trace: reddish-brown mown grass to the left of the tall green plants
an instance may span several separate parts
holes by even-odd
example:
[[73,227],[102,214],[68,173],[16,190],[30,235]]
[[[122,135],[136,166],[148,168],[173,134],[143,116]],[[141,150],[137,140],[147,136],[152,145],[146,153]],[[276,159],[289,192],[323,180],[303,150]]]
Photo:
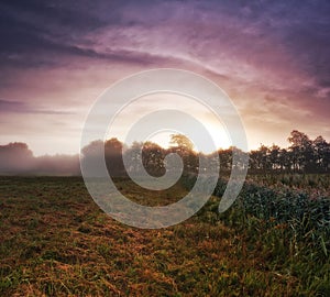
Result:
[[[185,194],[176,185],[155,199],[128,180],[118,185],[143,204],[169,204]],[[276,251],[263,244],[267,230],[250,239],[226,227],[211,210],[216,199],[182,224],[140,230],[105,215],[78,177],[1,177],[0,295],[315,296],[321,292],[289,266],[289,255],[276,260]]]

